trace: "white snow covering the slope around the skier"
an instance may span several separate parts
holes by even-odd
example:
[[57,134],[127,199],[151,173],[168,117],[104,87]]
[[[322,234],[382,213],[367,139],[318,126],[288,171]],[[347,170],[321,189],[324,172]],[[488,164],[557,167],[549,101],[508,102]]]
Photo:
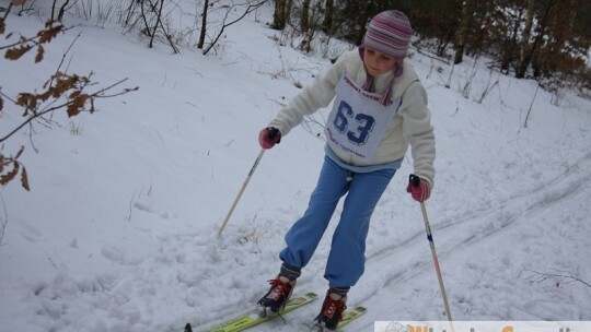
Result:
[[[100,99],[93,115],[55,112],[49,126],[3,145],[5,155],[25,146],[32,190],[19,181],[0,189],[0,331],[182,331],[187,321],[206,330],[253,307],[278,272],[282,236],[304,212],[324,157],[320,126],[294,129],[265,153],[217,236],[260,151],[258,131],[299,92],[294,83],[329,66],[278,46],[265,26],[271,15],[267,4],[232,25],[221,51],[206,57],[190,47],[149,49],[115,25],[69,17],[72,28],[42,63],[34,55],[0,60],[3,94],[39,90],[81,34],[68,72],[139,86]],[[16,15],[7,23],[25,35],[40,24]],[[436,127],[426,208],[453,318],[591,320],[591,102],[535,94],[535,82],[490,73],[484,61],[455,67],[445,88],[451,67],[416,51],[410,60]],[[23,119],[4,102],[2,133]],[[405,161],[373,215],[366,274],[349,294],[350,306],[369,312],[349,331],[447,319],[420,208],[405,192],[412,171]],[[325,292],[339,211],[298,290]],[[301,329],[320,305],[257,331]]]

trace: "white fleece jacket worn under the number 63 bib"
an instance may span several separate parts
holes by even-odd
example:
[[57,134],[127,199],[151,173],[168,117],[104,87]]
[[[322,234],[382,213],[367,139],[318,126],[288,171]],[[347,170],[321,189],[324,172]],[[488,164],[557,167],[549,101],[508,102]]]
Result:
[[[302,122],[304,116],[328,106],[335,97],[335,87],[344,71],[359,85],[366,82],[367,73],[357,49],[343,55],[335,64],[317,75],[311,85],[293,97],[288,107],[282,109],[269,126],[279,129],[281,135],[285,137]],[[374,78],[375,92],[383,94],[393,75],[394,72],[391,71]],[[415,175],[429,181],[432,188],[436,146],[431,114],[427,108],[425,87],[406,60],[403,62],[402,75],[394,81],[392,96],[401,98],[402,104],[397,115],[391,120],[371,163],[363,163],[344,150],[332,149],[332,152],[343,163],[362,167],[398,161],[405,156],[410,145]]]

